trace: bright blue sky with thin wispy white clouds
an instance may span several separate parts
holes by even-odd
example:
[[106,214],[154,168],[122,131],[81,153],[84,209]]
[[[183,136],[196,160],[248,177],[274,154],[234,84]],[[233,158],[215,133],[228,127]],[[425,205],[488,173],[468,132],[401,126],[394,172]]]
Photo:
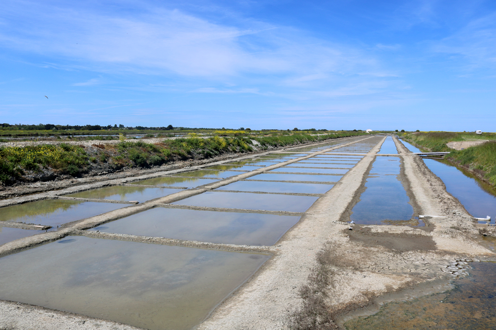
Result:
[[496,1],[2,0],[0,122],[495,132]]

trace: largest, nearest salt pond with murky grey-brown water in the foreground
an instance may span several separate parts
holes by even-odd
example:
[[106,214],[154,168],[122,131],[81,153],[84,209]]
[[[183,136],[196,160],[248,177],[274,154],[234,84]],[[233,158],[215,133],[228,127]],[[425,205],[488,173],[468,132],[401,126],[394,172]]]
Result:
[[1,258],[0,299],[151,330],[189,330],[267,259],[68,236]]

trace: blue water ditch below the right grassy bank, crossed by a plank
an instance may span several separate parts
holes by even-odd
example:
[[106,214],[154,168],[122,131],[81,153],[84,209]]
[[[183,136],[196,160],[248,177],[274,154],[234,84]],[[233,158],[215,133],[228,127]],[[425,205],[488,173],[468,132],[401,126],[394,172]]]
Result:
[[[408,142],[403,144],[412,152],[421,152]],[[429,169],[442,180],[446,190],[456,197],[476,218],[496,217],[496,189],[480,181],[470,172],[455,167],[445,160],[424,159]],[[483,222],[486,223],[486,222]]]

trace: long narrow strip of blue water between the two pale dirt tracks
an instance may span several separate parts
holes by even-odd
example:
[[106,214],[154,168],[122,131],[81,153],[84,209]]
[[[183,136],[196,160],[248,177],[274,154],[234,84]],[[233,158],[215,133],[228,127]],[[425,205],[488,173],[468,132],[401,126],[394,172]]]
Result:
[[[413,207],[408,202],[403,185],[398,180],[398,157],[376,157],[365,183],[360,201],[353,207],[350,220],[357,224],[383,225],[412,219]],[[392,222],[390,222],[392,221]]]

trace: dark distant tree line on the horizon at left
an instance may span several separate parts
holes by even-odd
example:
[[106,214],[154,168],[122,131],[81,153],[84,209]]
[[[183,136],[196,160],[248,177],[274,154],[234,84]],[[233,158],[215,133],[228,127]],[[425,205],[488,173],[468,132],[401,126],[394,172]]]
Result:
[[145,127],[145,126],[136,126],[136,127],[124,127],[123,124],[115,124],[101,126],[101,125],[55,125],[55,124],[38,124],[38,125],[23,125],[23,124],[0,124],[0,130],[6,131],[64,131],[64,130],[72,130],[72,131],[100,131],[100,130],[158,130],[158,131],[169,131],[173,130],[174,127],[169,125],[167,127]]

